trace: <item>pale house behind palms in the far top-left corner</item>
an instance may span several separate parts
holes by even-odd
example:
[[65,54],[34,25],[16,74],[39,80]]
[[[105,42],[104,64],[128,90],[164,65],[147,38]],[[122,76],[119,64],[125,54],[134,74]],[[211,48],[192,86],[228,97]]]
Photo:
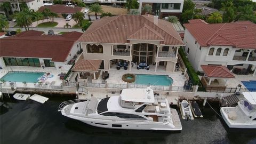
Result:
[[[10,2],[12,5],[13,12],[19,11],[17,0],[0,0],[0,5],[3,2]],[[44,5],[43,0],[19,0],[19,4],[21,4],[22,2],[25,2],[28,5],[29,9],[33,9],[35,11],[37,11],[39,7]]]

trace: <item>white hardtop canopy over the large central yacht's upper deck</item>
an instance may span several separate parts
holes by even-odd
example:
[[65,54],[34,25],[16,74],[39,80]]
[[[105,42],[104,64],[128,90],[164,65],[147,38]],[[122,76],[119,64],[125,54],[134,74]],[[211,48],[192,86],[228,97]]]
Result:
[[121,93],[124,101],[154,103],[154,92],[150,87],[147,89],[124,89]]

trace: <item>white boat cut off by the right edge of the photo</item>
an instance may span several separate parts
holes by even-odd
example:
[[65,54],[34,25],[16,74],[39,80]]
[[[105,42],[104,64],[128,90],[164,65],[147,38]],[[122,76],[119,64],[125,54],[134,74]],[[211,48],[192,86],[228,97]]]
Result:
[[221,107],[220,113],[230,128],[256,129],[256,92],[243,92],[236,107]]

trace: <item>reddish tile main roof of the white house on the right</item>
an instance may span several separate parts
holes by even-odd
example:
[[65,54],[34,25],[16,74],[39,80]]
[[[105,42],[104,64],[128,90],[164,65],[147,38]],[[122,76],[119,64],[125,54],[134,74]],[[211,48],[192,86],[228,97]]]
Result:
[[203,20],[189,20],[184,26],[201,46],[256,49],[256,24],[248,21],[209,24]]

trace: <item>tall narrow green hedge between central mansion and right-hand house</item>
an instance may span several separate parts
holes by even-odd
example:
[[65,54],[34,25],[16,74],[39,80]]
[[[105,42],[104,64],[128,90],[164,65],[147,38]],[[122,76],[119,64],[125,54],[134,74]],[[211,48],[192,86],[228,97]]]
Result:
[[187,68],[187,72],[189,77],[191,78],[193,85],[198,85],[200,82],[199,77],[196,74],[195,69],[191,65],[191,63],[188,61],[188,58],[186,57],[185,53],[182,51],[182,49],[179,49],[180,57],[182,58],[183,62],[185,63],[185,66]]

